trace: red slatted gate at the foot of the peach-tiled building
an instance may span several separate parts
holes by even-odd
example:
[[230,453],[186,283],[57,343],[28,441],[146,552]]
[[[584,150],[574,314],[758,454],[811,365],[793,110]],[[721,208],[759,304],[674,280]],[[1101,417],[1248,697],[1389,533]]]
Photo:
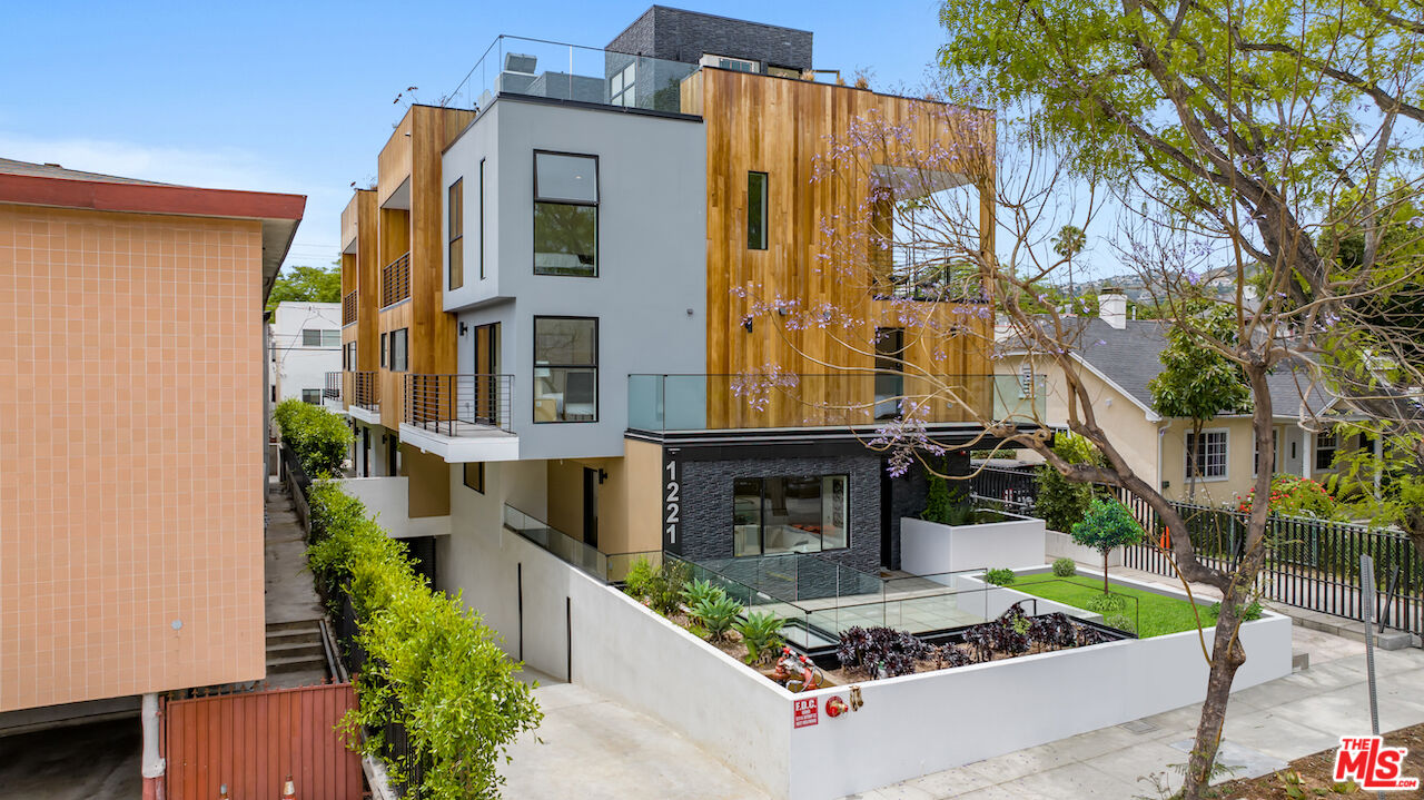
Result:
[[350,683],[172,700],[164,712],[171,800],[276,800],[288,776],[300,800],[357,800],[360,756],[336,730],[356,707]]

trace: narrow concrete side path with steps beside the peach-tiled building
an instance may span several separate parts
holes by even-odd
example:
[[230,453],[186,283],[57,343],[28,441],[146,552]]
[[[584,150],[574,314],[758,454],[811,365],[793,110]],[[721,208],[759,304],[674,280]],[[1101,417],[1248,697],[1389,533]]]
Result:
[[266,494],[266,673],[273,688],[328,679],[322,606],[306,571],[306,541],[292,498],[278,485]]

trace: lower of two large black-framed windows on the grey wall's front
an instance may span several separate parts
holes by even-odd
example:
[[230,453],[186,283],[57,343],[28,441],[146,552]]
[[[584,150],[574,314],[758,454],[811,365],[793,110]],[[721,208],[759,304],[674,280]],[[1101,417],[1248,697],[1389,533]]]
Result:
[[534,421],[598,420],[598,320],[534,317]]

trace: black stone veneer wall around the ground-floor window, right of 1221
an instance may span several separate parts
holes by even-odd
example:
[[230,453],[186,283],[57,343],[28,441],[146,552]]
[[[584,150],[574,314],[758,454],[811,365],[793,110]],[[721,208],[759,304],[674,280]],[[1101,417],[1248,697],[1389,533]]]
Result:
[[880,567],[879,456],[679,461],[684,558],[732,558],[732,481],[736,478],[844,474],[850,475],[850,548],[823,552],[820,558],[866,572]]

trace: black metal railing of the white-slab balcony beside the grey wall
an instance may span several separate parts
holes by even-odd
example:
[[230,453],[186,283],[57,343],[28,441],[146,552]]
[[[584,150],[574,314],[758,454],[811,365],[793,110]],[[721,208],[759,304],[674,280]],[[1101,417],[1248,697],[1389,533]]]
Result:
[[443,436],[510,430],[514,376],[406,374],[404,421]]

